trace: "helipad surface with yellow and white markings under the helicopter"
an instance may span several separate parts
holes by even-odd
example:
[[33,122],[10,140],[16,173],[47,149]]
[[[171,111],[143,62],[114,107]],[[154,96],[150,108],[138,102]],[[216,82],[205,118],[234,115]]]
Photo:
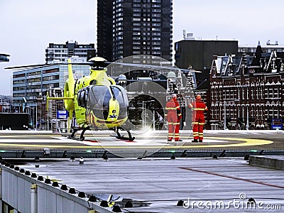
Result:
[[[53,149],[77,149],[77,148],[151,148],[160,150],[161,148],[244,148],[246,146],[263,146],[274,143],[271,139],[273,134],[282,134],[277,132],[269,133],[268,139],[259,138],[261,132],[233,132],[219,135],[215,132],[205,133],[203,143],[192,143],[190,131],[181,131],[182,141],[167,141],[166,131],[149,131],[147,133],[134,132],[134,141],[119,140],[112,133],[106,131],[95,131],[89,133],[84,141],[76,141],[62,136],[60,133],[41,133],[40,131],[27,131],[25,133],[1,132],[0,147],[9,148],[53,148]],[[233,135],[234,134],[234,135]],[[112,136],[111,136],[112,135]],[[230,137],[231,136],[231,137]],[[233,136],[233,137],[232,137]],[[267,135],[266,135],[267,136]],[[279,146],[278,146],[279,147]],[[280,148],[280,147],[279,147]]]

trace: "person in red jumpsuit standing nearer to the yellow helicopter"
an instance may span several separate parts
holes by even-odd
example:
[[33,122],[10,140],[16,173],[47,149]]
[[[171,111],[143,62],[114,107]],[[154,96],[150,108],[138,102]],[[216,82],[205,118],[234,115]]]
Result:
[[172,99],[165,104],[165,119],[168,121],[168,141],[182,141],[180,139],[180,104],[177,94],[172,94]]

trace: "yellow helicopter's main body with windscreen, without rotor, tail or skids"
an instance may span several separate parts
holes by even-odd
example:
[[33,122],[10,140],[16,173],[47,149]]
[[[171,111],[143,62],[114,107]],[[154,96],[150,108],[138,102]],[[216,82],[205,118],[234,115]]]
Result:
[[[128,106],[126,93],[122,87],[107,76],[107,70],[91,70],[90,75],[75,82],[74,107],[75,118],[80,128],[112,129],[121,126],[127,120],[127,112],[121,116],[121,106]],[[122,95],[115,97],[119,92]],[[95,100],[95,101],[94,101]],[[84,104],[82,104],[84,102]],[[122,103],[121,102],[127,102]],[[122,109],[122,110],[125,110]]]

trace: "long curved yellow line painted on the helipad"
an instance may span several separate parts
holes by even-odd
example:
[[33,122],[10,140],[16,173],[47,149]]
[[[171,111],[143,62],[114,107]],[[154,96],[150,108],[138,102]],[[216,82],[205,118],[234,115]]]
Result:
[[[131,143],[129,146],[67,146],[67,145],[36,145],[36,144],[13,144],[13,143],[0,143],[0,146],[10,146],[10,147],[33,147],[33,148],[224,148],[224,147],[238,147],[238,146],[261,146],[273,143],[273,141],[261,140],[261,139],[249,139],[249,138],[221,138],[221,137],[207,137],[210,139],[218,139],[226,141],[243,141],[243,143],[229,143],[229,144],[202,144],[199,145],[189,145],[189,146],[139,146]],[[74,142],[74,141],[72,141]],[[48,143],[48,141],[47,141]],[[78,142],[80,143],[80,142]],[[99,143],[99,142],[97,142]],[[119,143],[119,141],[118,141]],[[183,142],[184,143],[184,142]],[[207,142],[204,142],[207,143]],[[212,143],[212,142],[210,142]]]

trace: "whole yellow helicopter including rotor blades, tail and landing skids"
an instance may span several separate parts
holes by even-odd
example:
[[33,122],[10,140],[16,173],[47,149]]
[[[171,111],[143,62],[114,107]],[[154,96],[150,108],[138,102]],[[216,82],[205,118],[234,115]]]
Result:
[[[53,63],[43,65],[26,65],[19,67],[6,67],[5,69],[23,69],[28,67],[45,67],[62,65],[66,63]],[[72,65],[90,65],[90,74],[75,80]],[[47,108],[49,100],[63,100],[64,106],[69,111],[68,132],[70,121],[75,116],[78,127],[72,126],[72,133],[68,138],[84,141],[84,133],[87,130],[114,130],[116,138],[133,141],[131,125],[128,120],[129,99],[126,89],[117,85],[115,80],[107,75],[107,65],[126,65],[143,69],[170,69],[185,70],[173,67],[159,67],[145,64],[131,64],[123,62],[107,62],[104,58],[94,57],[88,62],[71,62],[67,60],[68,78],[65,82],[63,97],[50,97],[47,93]],[[189,71],[189,70],[187,70]],[[190,72],[200,72],[191,70]],[[82,130],[79,137],[77,131]],[[122,136],[119,130],[126,131],[128,137]]]

